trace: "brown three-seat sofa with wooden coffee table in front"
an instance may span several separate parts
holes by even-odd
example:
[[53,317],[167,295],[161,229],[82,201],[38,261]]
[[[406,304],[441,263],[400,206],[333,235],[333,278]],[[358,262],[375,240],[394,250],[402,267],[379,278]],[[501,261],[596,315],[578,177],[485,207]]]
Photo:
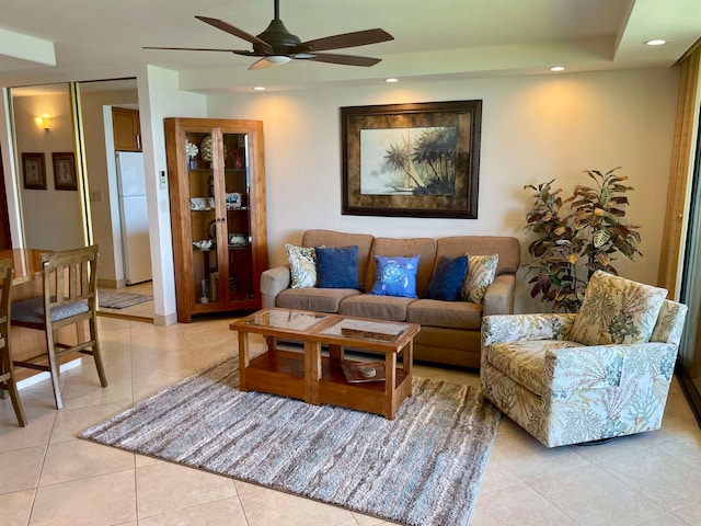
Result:
[[[265,271],[261,277],[263,307],[338,312],[346,316],[420,323],[414,340],[417,361],[480,367],[480,325],[482,316],[514,312],[516,271],[520,244],[516,238],[455,236],[449,238],[376,238],[366,233],[307,230],[302,247],[358,245],[358,278],[361,290],[347,288],[289,288],[288,266]],[[441,255],[491,255],[498,253],[496,278],[482,305],[468,301],[427,299],[426,289],[435,262]],[[416,275],[418,298],[367,294],[375,282],[374,255],[414,256],[420,254]]]

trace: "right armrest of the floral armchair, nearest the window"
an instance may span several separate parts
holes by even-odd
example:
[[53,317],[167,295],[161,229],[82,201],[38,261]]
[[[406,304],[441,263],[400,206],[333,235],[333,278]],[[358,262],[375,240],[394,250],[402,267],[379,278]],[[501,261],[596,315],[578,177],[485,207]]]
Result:
[[671,343],[582,345],[545,352],[543,384],[558,392],[643,382],[666,389],[671,381],[677,346]]

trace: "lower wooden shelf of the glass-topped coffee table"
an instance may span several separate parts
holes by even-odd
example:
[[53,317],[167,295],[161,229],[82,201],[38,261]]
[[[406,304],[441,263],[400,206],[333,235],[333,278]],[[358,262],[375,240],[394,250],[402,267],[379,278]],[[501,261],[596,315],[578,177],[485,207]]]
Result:
[[384,380],[349,382],[342,363],[321,357],[321,378],[304,380],[304,354],[272,350],[251,358],[245,368],[245,390],[297,398],[314,405],[327,403],[394,418],[397,408],[412,393],[411,374],[395,368],[393,389]]

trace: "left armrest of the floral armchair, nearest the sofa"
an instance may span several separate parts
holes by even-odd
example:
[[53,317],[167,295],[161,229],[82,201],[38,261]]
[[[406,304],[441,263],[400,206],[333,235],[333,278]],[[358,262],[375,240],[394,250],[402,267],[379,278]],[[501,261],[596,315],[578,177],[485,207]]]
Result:
[[505,315],[482,318],[482,346],[518,340],[563,340],[577,315]]

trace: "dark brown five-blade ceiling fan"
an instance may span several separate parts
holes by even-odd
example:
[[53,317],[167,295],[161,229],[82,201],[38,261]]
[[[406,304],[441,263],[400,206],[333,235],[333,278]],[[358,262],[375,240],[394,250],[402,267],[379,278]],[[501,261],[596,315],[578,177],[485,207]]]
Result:
[[218,30],[225,31],[233,36],[243,38],[253,44],[253,50],[246,49],[208,49],[197,47],[145,47],[145,49],[172,49],[188,52],[225,52],[245,57],[261,57],[253,62],[249,69],[263,69],[275,64],[286,64],[291,59],[314,60],[318,62],[340,64],[344,66],[375,66],[381,58],[359,57],[355,55],[338,55],[333,53],[319,53],[330,49],[341,49],[346,47],[366,46],[380,42],[393,41],[394,37],[383,30],[365,30],[341,35],[326,36],[314,41],[301,42],[297,35],[292,35],[283,24],[279,18],[279,0],[275,1],[275,18],[267,28],[257,36],[246,33],[243,30],[219,20],[208,16],[196,15]]

